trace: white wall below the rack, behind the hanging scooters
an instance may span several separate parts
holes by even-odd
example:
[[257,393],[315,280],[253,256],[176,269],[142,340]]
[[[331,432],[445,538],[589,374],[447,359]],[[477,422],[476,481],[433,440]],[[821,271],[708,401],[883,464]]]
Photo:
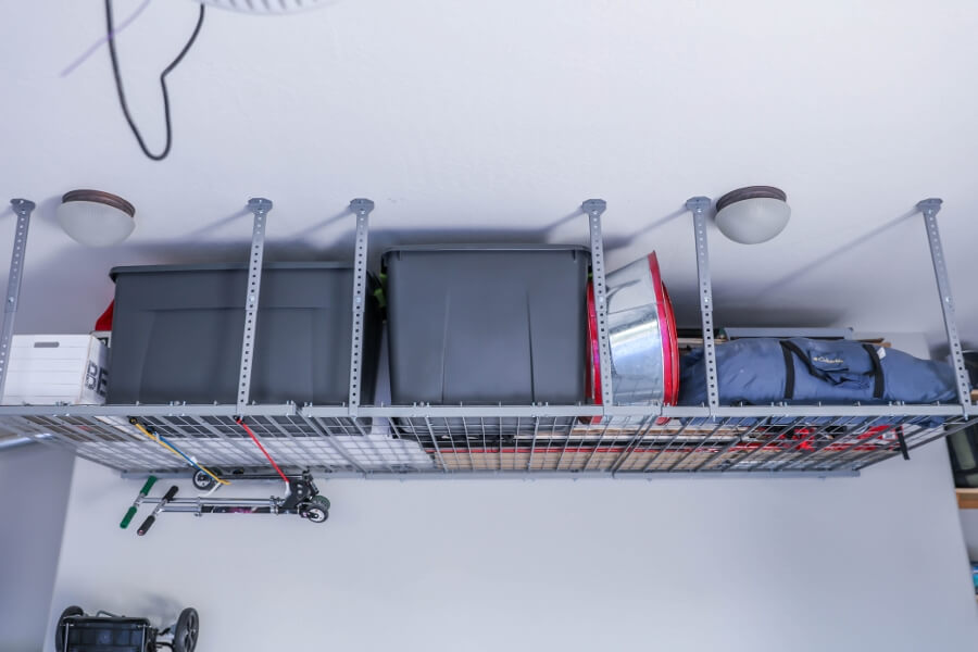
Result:
[[79,461],[52,618],[71,603],[171,618],[193,605],[201,652],[919,651],[978,637],[941,442],[856,479],[321,488],[323,525],[164,514],[138,538],[117,523],[139,482]]

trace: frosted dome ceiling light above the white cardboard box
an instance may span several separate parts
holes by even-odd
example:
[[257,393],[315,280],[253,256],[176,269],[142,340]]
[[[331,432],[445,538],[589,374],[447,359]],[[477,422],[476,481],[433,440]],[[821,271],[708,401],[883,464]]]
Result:
[[72,190],[61,198],[58,222],[73,240],[110,247],[136,228],[136,209],[122,197],[101,190]]

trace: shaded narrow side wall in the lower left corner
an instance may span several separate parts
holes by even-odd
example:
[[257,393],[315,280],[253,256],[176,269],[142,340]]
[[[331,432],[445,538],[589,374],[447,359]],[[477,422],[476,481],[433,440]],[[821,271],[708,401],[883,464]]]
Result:
[[48,626],[74,456],[0,451],[0,650],[39,650]]

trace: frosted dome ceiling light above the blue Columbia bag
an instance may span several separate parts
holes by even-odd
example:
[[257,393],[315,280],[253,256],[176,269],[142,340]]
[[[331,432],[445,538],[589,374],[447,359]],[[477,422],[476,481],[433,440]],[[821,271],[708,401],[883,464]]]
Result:
[[716,226],[741,244],[767,242],[785,230],[791,216],[788,196],[774,186],[748,186],[716,200]]

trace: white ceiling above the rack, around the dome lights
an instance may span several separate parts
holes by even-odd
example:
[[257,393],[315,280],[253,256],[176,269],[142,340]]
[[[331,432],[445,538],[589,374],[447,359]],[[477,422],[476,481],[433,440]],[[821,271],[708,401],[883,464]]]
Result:
[[[116,22],[139,4],[116,0]],[[694,195],[769,184],[793,215],[747,247],[711,228],[722,325],[925,330],[941,321],[911,215],[940,224],[966,341],[978,344],[978,4],[970,0],[341,0],[288,16],[209,10],[170,77],[174,145],[138,150],[102,36],[101,0],[3,3],[0,185],[40,204],[18,331],[87,330],[110,267],[243,260],[241,210],[273,199],[266,256],[349,260],[353,197],[396,241],[584,242],[582,199],[609,202],[611,267],[659,251],[695,324]],[[153,0],[118,37],[153,149],[156,77],[197,15]],[[116,192],[137,229],[86,249],[54,222],[73,188]],[[553,226],[556,224],[556,226]],[[5,225],[5,226],[4,226]],[[0,221],[0,254],[13,218]],[[454,231],[454,233],[449,233]],[[5,283],[5,279],[0,279]]]

